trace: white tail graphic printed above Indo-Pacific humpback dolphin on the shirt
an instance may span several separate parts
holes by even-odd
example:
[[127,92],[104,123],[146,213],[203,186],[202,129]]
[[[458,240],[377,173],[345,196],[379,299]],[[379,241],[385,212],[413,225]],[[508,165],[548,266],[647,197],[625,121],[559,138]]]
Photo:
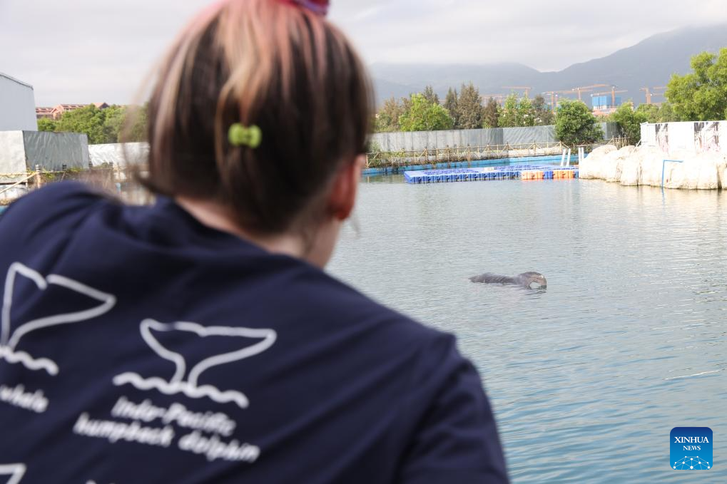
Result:
[[[113,382],[116,385],[132,384],[139,390],[156,390],[166,394],[174,395],[176,393],[184,393],[190,398],[210,398],[217,403],[228,403],[230,401],[237,403],[241,408],[249,406],[249,400],[241,392],[221,391],[211,385],[199,386],[199,376],[204,371],[235,361],[244,360],[254,355],[258,355],[268,350],[276,341],[277,334],[273,329],[254,329],[228,326],[201,326],[197,323],[177,322],[177,323],[160,323],[153,319],[143,320],[140,325],[142,338],[149,347],[156,352],[161,358],[174,363],[175,371],[169,381],[158,377],[148,379],[134,373],[124,373],[117,375]],[[183,331],[190,335],[205,338],[207,336],[226,336],[230,338],[257,339],[254,344],[246,344],[237,350],[230,352],[218,353],[208,358],[204,358],[193,366],[189,366],[187,360],[179,352],[174,352],[165,347],[154,332],[179,332]]]

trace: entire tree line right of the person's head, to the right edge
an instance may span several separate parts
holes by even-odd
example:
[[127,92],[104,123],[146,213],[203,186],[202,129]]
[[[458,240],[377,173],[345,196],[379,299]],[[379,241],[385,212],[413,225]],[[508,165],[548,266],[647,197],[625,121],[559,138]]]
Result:
[[[616,122],[624,137],[636,143],[642,123],[726,119],[727,48],[718,55],[702,52],[692,57],[691,68],[692,72],[684,76],[672,76],[665,94],[667,101],[661,105],[642,104],[634,109],[633,102],[626,102],[598,121]],[[443,105],[431,86],[409,98],[391,98],[377,114],[376,129],[387,132],[555,124],[561,130],[570,126],[566,131],[580,133],[572,139],[587,142],[595,133],[593,126],[598,127],[595,121],[587,106],[577,101],[561,101],[557,114],[542,96],[530,100],[511,94],[502,106],[492,98],[483,103],[478,89],[470,83],[462,84],[459,92],[450,88]]]

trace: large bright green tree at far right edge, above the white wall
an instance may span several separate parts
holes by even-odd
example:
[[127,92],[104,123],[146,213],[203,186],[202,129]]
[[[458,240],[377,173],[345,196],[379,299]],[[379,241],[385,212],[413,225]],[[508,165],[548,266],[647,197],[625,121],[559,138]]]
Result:
[[727,117],[727,48],[719,55],[702,52],[691,58],[691,73],[674,74],[667,100],[680,121],[717,121]]

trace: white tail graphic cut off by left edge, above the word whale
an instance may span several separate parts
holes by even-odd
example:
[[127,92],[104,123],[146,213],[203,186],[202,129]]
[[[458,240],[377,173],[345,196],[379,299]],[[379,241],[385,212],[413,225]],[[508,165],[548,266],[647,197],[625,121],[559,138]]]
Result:
[[[13,304],[17,303],[16,286],[19,283],[17,276],[22,276],[25,281],[29,281],[31,288],[34,286],[36,290],[47,291],[52,288],[68,289],[71,294],[83,297],[84,299],[92,299],[96,305],[85,310],[72,312],[56,313],[45,315],[41,318],[27,320],[23,324],[13,329],[11,321],[11,310]],[[28,296],[28,294],[25,294]],[[51,274],[44,277],[36,270],[32,270],[20,262],[10,265],[5,277],[5,289],[3,292],[2,312],[0,314],[0,360],[6,360],[8,363],[21,363],[26,368],[37,371],[44,369],[51,375],[58,374],[58,366],[53,360],[47,358],[33,358],[26,352],[17,351],[17,344],[23,336],[39,331],[43,328],[58,326],[61,324],[80,323],[81,321],[97,318],[100,315],[110,311],[116,304],[116,297],[111,294],[93,289],[73,279],[65,278],[62,275]]]

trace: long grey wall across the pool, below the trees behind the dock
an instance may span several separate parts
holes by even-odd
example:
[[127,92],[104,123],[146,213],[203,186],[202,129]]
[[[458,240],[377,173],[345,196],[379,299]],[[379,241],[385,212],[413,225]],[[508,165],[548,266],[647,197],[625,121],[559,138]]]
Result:
[[[604,138],[617,137],[614,123],[601,123]],[[371,146],[381,151],[415,151],[436,148],[454,148],[486,145],[526,145],[529,143],[558,142],[555,126],[527,128],[451,129],[449,131],[419,131],[376,133],[371,135]]]

